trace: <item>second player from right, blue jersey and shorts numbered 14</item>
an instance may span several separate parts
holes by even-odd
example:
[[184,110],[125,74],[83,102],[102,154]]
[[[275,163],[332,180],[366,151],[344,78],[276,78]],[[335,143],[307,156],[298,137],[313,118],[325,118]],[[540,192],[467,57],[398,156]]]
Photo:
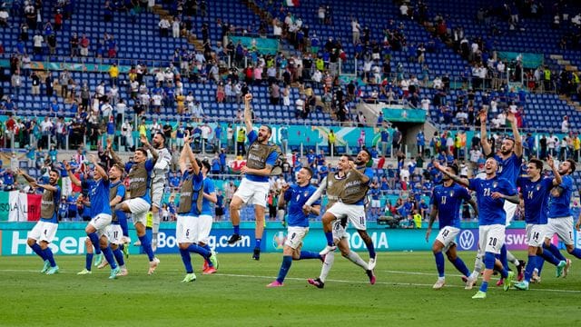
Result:
[[[555,178],[541,177],[543,162],[531,159],[527,164],[527,176],[519,177],[517,186],[525,203],[525,222],[527,223],[528,262],[525,269],[525,278],[515,284],[518,290],[528,290],[528,284],[537,267],[537,254],[545,260],[556,264],[557,276],[563,272],[566,262],[559,262],[549,251],[543,252],[542,245],[547,234],[547,203],[551,189],[562,183],[561,175],[556,169],[555,162],[548,156],[548,166],[551,167]],[[541,259],[542,260],[542,259]]]

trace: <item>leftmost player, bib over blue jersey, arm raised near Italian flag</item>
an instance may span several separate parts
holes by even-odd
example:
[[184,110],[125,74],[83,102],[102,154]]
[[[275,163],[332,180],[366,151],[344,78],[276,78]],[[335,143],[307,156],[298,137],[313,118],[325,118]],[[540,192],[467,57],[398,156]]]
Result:
[[49,243],[53,242],[54,235],[58,230],[58,201],[61,198],[61,188],[58,186],[60,173],[53,170],[49,173],[48,184],[36,183],[36,180],[20,169],[17,171],[26,182],[34,188],[44,189],[43,198],[40,205],[40,220],[28,233],[26,243],[44,261],[44,267],[40,271],[46,274],[59,272],[59,268],[54,262],[54,255]]

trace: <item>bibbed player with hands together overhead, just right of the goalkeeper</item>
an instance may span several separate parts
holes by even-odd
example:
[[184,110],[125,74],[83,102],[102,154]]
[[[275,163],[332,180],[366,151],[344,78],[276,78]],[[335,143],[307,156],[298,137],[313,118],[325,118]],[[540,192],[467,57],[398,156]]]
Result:
[[[214,253],[196,244],[197,225],[200,213],[202,213],[203,201],[203,174],[200,168],[202,163],[192,153],[190,147],[192,139],[188,132],[186,132],[183,142],[179,161],[182,171],[182,188],[180,189],[180,206],[175,224],[175,236],[186,272],[182,282],[193,282],[196,280],[196,275],[193,272],[191,252],[199,253],[204,259],[208,259],[208,264],[212,268],[217,261]],[[189,160],[190,164],[186,163],[186,159]]]

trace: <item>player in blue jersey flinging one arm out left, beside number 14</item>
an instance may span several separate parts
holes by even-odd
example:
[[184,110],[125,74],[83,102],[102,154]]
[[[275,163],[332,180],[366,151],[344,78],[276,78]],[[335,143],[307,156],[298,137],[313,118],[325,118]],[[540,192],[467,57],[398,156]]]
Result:
[[[507,213],[504,210],[505,201],[518,203],[517,189],[504,178],[497,176],[498,163],[495,158],[488,158],[484,165],[487,174],[485,179],[460,178],[450,173],[445,167],[435,163],[435,167],[447,174],[454,182],[468,186],[476,192],[478,201],[478,246],[484,251],[485,270],[480,290],[473,299],[485,299],[487,297],[488,282],[494,270],[496,255],[505,243],[505,228]],[[500,275],[504,280],[504,289],[508,291],[514,277],[514,272],[508,272],[507,267],[500,269]],[[470,282],[470,281],[468,281]],[[473,281],[472,281],[473,282]]]

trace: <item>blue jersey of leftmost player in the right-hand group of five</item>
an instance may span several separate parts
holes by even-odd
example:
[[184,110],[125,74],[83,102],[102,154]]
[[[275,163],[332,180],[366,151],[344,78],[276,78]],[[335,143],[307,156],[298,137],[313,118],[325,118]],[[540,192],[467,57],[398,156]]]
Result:
[[429,203],[438,209],[439,228],[446,226],[460,228],[460,207],[463,201],[470,200],[468,190],[456,183],[446,187],[434,188]]

